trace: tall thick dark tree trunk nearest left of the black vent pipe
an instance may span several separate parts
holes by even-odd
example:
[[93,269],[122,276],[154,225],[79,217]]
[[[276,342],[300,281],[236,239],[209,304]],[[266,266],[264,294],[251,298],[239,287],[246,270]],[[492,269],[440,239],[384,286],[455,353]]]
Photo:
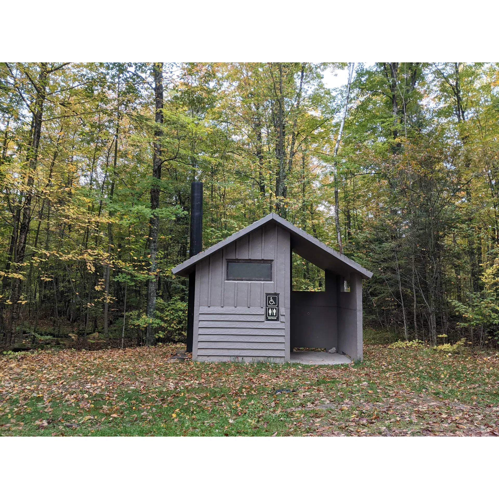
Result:
[[153,76],[154,76],[154,96],[156,103],[154,129],[154,143],[153,143],[153,185],[151,187],[151,210],[153,216],[149,220],[149,280],[147,281],[147,318],[149,324],[146,330],[146,345],[154,345],[154,326],[151,321],[154,319],[154,311],[156,310],[156,293],[158,290],[158,276],[157,276],[157,255],[158,255],[158,230],[159,230],[159,215],[156,210],[159,208],[159,181],[161,180],[161,137],[163,130],[163,63],[153,63]]

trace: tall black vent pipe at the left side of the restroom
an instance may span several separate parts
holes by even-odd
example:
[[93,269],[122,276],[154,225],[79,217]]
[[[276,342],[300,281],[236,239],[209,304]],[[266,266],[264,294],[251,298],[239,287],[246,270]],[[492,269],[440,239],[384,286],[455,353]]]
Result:
[[[203,182],[191,184],[191,241],[189,258],[203,250]],[[196,271],[189,274],[189,297],[187,302],[187,348],[192,352],[194,336],[194,286]]]

